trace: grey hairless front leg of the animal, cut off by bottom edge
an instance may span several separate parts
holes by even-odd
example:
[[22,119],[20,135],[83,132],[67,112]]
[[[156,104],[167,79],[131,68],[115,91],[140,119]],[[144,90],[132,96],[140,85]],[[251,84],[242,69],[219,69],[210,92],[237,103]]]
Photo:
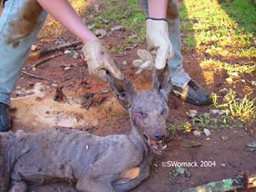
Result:
[[110,183],[102,183],[97,181],[95,178],[90,176],[85,176],[84,178],[80,178],[76,185],[78,190],[83,192],[115,192],[114,188],[112,188]]

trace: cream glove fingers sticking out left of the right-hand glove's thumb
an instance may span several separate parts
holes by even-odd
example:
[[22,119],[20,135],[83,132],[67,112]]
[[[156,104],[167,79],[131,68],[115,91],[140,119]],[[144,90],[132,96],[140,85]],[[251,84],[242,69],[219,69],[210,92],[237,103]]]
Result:
[[134,60],[132,64],[138,67],[139,70],[135,74],[142,73],[143,70],[153,70],[154,69],[154,56],[149,53],[146,49],[138,49],[137,55],[140,59]]

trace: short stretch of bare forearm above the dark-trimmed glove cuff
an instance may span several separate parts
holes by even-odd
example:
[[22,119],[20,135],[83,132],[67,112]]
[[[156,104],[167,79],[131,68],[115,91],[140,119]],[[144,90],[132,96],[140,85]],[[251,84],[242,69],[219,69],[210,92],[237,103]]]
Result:
[[168,0],[149,0],[149,17],[166,18]]

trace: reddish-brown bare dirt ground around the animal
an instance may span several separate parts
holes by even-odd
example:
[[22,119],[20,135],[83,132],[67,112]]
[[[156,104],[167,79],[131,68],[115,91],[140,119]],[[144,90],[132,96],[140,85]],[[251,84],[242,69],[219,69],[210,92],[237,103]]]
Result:
[[[95,1],[86,1],[85,6],[92,6]],[[97,1],[99,3],[99,1]],[[110,46],[122,43],[125,36],[132,35],[129,31],[114,31],[110,36],[103,38]],[[53,22],[53,18],[48,16],[35,45],[42,49],[58,46],[62,43],[70,43],[77,39],[65,30],[59,23]],[[109,87],[100,80],[92,78],[87,69],[85,61],[81,59],[80,49],[82,44],[65,48],[65,50],[76,50],[78,58],[64,54],[50,59],[36,68],[30,68],[43,58],[63,50],[50,53],[36,60],[26,62],[24,71],[33,73],[38,77],[50,80],[33,78],[26,74],[21,74],[17,88],[11,97],[11,116],[13,118],[13,131],[23,129],[25,132],[38,132],[41,129],[48,129],[53,126],[73,127],[82,129],[93,134],[106,136],[108,134],[128,134],[131,125],[129,115],[114,99]],[[137,90],[142,91],[151,87],[151,72],[141,75],[134,75],[136,68],[132,65],[132,60],[137,59],[137,49],[146,48],[146,44],[137,46],[126,53],[113,53],[114,59],[121,63],[120,68],[124,75],[132,80]],[[191,49],[191,48],[190,48]],[[208,92],[218,92],[220,88],[227,87],[225,78],[227,75],[216,74],[212,68],[201,68],[199,61],[207,58],[208,55],[198,54],[193,48],[189,53],[183,54],[183,65],[185,70],[197,82],[200,82]],[[232,62],[234,58],[226,60]],[[123,61],[127,65],[123,65]],[[223,59],[225,60],[225,59]],[[191,67],[193,66],[193,67]],[[256,78],[256,74],[251,74],[247,78]],[[237,92],[242,92],[242,83],[234,85]],[[63,86],[65,95],[62,102],[53,100],[56,87]],[[93,93],[90,97],[89,93]],[[176,124],[187,119],[186,112],[197,110],[203,114],[209,112],[207,107],[189,105],[179,100],[172,93],[169,95],[169,117],[166,122]],[[256,152],[246,149],[245,144],[256,141],[255,125],[250,127],[250,131],[245,129],[218,129],[211,131],[210,137],[201,134],[196,137],[192,133],[176,132],[176,135],[169,132],[166,139],[168,145],[164,156],[154,156],[154,163],[151,166],[151,174],[133,192],[178,192],[194,186],[202,185],[212,181],[220,181],[223,178],[241,174],[243,172],[256,172]],[[228,137],[223,141],[221,137]],[[200,142],[200,146],[183,147],[187,141]],[[122,161],[122,159],[120,159]],[[192,162],[196,161],[198,167],[186,167],[190,176],[174,176],[175,167],[161,166],[163,161]],[[205,166],[202,165],[202,162]],[[225,166],[224,166],[225,164]],[[47,186],[31,185],[29,191],[75,191],[70,183],[53,183]],[[256,189],[245,189],[240,191],[256,191]]]

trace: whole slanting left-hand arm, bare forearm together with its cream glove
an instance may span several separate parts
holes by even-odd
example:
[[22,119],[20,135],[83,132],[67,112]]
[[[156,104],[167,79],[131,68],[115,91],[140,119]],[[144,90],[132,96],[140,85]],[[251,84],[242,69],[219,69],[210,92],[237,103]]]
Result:
[[[68,30],[82,41],[82,43],[85,43],[82,51],[87,58],[90,75],[107,82],[107,79],[105,78],[107,70],[119,80],[124,78],[124,75],[114,64],[114,60],[110,55],[106,43],[98,40],[85,26],[68,0],[37,1],[48,14],[53,16],[53,18],[59,21],[65,28],[68,28]],[[101,54],[102,50],[104,50],[104,55]]]

